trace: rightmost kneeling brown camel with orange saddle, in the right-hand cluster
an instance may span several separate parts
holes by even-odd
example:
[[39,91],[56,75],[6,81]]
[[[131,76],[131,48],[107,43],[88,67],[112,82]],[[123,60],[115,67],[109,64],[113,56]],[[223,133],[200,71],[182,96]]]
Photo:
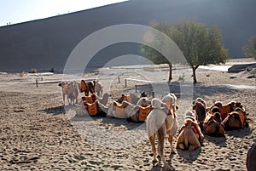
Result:
[[232,111],[224,119],[225,130],[232,130],[237,128],[244,128],[247,121],[247,113],[240,107],[237,107],[235,111]]

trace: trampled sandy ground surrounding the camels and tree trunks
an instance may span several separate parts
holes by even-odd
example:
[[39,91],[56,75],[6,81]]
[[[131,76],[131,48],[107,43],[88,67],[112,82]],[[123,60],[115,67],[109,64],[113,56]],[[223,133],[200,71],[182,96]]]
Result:
[[[115,99],[124,93],[150,94],[152,90],[160,96],[166,92],[167,75],[166,70],[149,72],[136,67],[102,69],[84,78],[99,79],[103,91]],[[247,78],[249,75],[252,73],[199,69],[199,83],[193,85],[190,70],[174,71],[170,88],[178,97],[180,126],[196,97],[206,100],[207,105],[214,100],[241,101],[249,113],[249,126],[228,131],[225,137],[206,135],[201,148],[195,151],[176,149],[176,154],[171,155],[166,143],[165,155],[173,170],[246,170],[247,151],[256,141],[256,82],[255,77]],[[0,170],[166,170],[162,162],[151,162],[145,124],[109,117],[74,117],[75,106],[62,105],[57,83],[62,78],[55,74],[0,75]],[[147,79],[152,84],[127,81],[125,88],[125,78]],[[49,83],[42,83],[46,81]],[[177,136],[173,145],[176,140]]]

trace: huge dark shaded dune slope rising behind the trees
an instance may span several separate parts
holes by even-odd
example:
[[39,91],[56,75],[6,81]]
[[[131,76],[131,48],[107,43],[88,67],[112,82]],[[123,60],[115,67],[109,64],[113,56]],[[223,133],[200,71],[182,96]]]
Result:
[[[193,19],[217,25],[229,57],[243,57],[241,47],[256,34],[255,0],[130,0],[96,9],[0,27],[0,71],[31,68],[62,70],[73,48],[94,31],[118,24]],[[140,55],[139,44],[119,43],[97,53],[91,66],[115,56]]]

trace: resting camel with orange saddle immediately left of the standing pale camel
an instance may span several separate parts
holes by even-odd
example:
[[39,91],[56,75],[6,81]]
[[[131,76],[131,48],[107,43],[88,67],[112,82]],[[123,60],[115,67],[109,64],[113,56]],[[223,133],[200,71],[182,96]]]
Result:
[[137,112],[135,114],[131,113],[131,117],[127,117],[127,121],[133,123],[144,122],[151,111],[150,104],[151,102],[146,97],[142,97],[137,102]]

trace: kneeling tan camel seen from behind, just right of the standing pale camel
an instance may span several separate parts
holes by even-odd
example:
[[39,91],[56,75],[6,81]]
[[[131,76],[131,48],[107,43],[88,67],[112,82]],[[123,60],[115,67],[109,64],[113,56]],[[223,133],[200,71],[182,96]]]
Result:
[[201,133],[199,123],[196,121],[195,113],[188,111],[183,126],[178,133],[176,148],[189,149],[189,151],[195,150],[201,147],[203,137],[204,135]]

